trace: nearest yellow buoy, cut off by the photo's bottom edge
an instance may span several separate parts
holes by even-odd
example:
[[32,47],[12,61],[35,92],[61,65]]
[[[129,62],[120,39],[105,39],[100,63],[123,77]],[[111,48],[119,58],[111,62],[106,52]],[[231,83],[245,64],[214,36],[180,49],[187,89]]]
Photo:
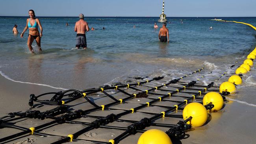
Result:
[[173,144],[173,142],[165,132],[159,129],[150,129],[139,137],[137,144]]

